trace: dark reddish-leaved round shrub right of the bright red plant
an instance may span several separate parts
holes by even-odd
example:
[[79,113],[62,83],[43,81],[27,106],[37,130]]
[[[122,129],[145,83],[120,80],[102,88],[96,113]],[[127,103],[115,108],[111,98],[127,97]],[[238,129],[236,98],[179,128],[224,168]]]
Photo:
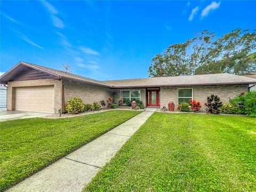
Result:
[[207,97],[207,102],[204,103],[204,105],[206,108],[206,113],[219,114],[222,102],[220,101],[218,95],[211,94],[209,97]]

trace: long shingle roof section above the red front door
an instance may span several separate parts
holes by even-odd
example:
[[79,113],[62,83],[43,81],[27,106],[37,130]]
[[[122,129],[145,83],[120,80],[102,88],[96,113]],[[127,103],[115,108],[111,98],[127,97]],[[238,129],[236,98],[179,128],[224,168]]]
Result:
[[159,86],[193,86],[193,85],[230,85],[254,84],[255,79],[232,74],[209,74],[172,77],[152,77],[103,81],[114,87],[159,87]]

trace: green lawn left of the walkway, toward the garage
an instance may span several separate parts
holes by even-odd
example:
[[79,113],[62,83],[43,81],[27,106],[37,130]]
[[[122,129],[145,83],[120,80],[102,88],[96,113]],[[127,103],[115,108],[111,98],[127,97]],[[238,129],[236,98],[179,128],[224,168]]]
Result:
[[72,118],[27,118],[1,122],[0,191],[139,113],[113,110]]

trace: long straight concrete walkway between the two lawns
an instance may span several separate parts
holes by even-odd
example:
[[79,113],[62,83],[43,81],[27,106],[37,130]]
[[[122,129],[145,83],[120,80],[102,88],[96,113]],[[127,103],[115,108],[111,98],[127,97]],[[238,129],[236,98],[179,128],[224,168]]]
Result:
[[81,191],[153,113],[143,111],[8,191]]

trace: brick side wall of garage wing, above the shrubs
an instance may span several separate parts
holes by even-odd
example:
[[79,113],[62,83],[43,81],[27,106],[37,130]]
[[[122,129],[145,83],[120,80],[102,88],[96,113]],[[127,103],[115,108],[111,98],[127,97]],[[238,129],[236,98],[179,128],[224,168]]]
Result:
[[111,95],[109,88],[70,82],[63,82],[63,92],[65,107],[68,104],[68,99],[74,97],[81,98],[84,103],[93,103],[100,100],[106,101]]

